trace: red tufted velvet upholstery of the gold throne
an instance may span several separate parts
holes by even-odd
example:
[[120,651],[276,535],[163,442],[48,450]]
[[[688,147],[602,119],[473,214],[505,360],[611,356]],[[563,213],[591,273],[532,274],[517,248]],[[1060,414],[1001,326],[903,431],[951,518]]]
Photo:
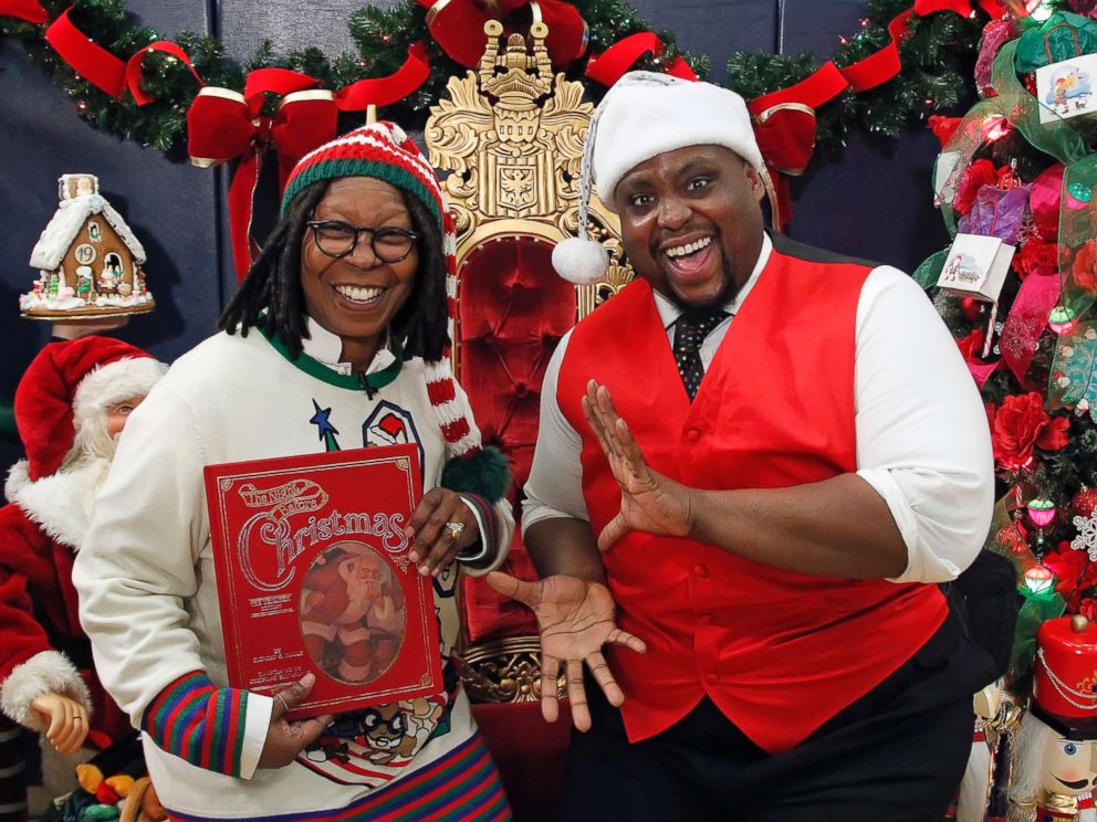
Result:
[[[553,271],[552,245],[505,238],[468,254],[460,271],[459,379],[487,445],[512,461],[518,500],[537,441],[541,382],[560,338],[575,325],[575,288]],[[520,508],[515,507],[515,518]],[[504,568],[535,579],[521,535]],[[469,640],[536,633],[530,612],[487,584],[464,589]]]

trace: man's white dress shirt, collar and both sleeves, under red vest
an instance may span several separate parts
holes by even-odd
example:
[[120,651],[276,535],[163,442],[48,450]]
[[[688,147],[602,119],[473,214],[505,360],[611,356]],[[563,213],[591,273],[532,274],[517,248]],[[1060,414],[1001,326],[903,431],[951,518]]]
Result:
[[[772,250],[765,236],[754,271],[725,307],[730,316],[701,345],[706,368]],[[680,310],[662,295],[655,297],[672,342]],[[582,488],[582,441],[556,403],[560,363],[570,338],[571,331],[545,370],[523,533],[543,519],[589,520]],[[811,329],[804,329],[803,344],[812,345]],[[874,268],[861,288],[855,356],[857,474],[884,497],[907,545],[907,568],[891,581],[954,579],[982,547],[994,505],[990,431],[974,380],[922,289],[891,266]]]

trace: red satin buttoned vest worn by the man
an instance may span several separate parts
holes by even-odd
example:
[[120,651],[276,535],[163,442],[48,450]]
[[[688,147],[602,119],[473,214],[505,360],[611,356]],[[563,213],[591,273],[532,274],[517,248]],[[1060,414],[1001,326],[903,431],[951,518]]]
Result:
[[[856,471],[855,330],[869,271],[774,250],[692,404],[647,282],[579,323],[556,399],[583,438],[594,534],[620,493],[579,405],[592,377],[651,467],[686,485],[774,488]],[[648,646],[612,652],[631,741],[708,695],[759,747],[792,748],[909,660],[948,609],[936,586],[797,573],[640,531],[603,558],[620,626]]]

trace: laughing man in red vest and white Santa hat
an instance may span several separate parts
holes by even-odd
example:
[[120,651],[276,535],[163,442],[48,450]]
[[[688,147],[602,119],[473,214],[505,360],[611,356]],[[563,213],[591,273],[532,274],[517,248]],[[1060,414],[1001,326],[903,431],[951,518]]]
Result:
[[993,500],[955,344],[902,273],[771,241],[738,95],[634,73],[595,118],[637,280],[546,371],[543,579],[490,578],[537,614],[545,717],[563,665],[587,731],[562,814],[940,819],[993,678],[934,584]]

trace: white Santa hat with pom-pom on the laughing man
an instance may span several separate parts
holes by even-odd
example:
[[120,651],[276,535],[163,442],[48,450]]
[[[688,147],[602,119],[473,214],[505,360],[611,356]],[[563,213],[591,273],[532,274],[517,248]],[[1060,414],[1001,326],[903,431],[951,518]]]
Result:
[[652,157],[690,146],[723,146],[764,170],[746,103],[734,92],[655,72],[629,72],[618,80],[591,119],[579,177],[579,235],[553,250],[556,273],[589,284],[608,265],[602,244],[587,238],[595,187],[613,211],[614,191],[625,175]]

